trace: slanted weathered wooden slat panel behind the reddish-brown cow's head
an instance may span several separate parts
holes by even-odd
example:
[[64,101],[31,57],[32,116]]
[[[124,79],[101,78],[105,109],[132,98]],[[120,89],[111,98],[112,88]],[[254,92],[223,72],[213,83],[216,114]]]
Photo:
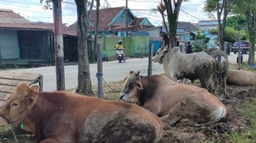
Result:
[[0,105],[13,93],[16,86],[20,84],[27,84],[31,86],[39,82],[40,89],[43,91],[43,75],[34,73],[0,73]]

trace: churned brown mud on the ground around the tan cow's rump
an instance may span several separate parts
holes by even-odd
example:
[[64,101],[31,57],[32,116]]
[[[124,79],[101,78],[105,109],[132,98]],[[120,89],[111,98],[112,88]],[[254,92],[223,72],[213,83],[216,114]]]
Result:
[[[165,124],[163,137],[158,143],[199,143],[205,140],[228,139],[223,136],[231,130],[245,128],[249,120],[243,115],[242,109],[254,100],[255,86],[227,86],[227,95],[222,100],[227,107],[227,116],[213,125],[202,127],[179,127],[179,124]],[[217,95],[222,97],[223,95]]]

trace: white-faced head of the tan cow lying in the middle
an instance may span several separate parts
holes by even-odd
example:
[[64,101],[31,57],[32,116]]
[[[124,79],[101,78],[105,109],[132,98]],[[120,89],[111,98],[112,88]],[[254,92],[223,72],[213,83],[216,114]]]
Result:
[[135,101],[136,90],[143,89],[139,74],[140,74],[140,71],[138,72],[130,71],[129,75],[125,77],[123,81],[123,89],[122,89],[122,92],[120,93],[121,100],[127,101],[131,99],[131,102],[136,102]]

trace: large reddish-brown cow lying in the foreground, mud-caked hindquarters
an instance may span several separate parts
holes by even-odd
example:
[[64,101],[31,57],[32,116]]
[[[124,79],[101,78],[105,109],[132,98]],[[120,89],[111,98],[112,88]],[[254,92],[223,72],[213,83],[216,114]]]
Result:
[[23,122],[40,143],[152,143],[162,136],[162,121],[136,104],[38,88],[18,86],[0,109],[0,126]]

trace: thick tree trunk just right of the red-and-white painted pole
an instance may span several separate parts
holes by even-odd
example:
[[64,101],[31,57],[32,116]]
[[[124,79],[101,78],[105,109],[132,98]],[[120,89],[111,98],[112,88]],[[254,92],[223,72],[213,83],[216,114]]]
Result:
[[78,85],[76,93],[93,93],[90,77],[87,27],[89,23],[87,0],[75,0],[77,7],[77,43],[78,43]]

